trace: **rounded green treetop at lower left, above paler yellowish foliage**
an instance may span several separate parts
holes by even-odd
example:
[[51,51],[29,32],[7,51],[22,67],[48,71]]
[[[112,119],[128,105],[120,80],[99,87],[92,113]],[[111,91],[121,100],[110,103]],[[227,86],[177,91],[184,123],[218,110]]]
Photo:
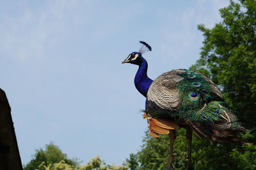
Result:
[[[36,150],[35,155],[33,155],[33,159],[24,167],[24,170],[45,169],[44,166],[47,167],[54,163],[58,163],[61,160],[71,167],[78,165],[76,159],[68,159],[67,155],[62,153],[58,146],[50,143],[49,145],[45,145],[45,150],[42,148]],[[42,164],[44,164],[44,166],[42,166]]]

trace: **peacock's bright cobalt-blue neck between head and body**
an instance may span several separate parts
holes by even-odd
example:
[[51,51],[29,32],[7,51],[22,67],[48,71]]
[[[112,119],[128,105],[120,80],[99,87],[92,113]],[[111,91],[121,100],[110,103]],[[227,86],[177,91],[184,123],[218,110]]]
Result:
[[147,69],[148,64],[147,60],[145,60],[143,57],[141,57],[142,62],[139,64],[139,69],[136,73],[136,76],[134,78],[134,83],[136,89],[145,97],[147,97],[148,88],[153,82],[150,78],[147,76]]

